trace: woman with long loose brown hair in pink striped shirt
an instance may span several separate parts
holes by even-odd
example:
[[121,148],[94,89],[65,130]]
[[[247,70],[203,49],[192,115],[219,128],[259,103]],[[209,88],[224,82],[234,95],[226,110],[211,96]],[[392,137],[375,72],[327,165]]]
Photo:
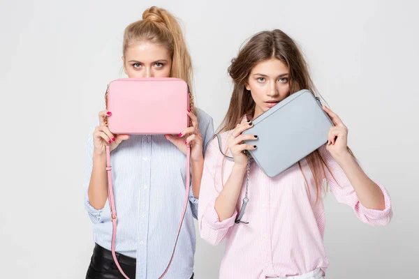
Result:
[[[258,135],[242,132],[252,126],[252,119],[300,89],[316,92],[300,50],[286,33],[254,35],[228,73],[234,89],[220,133],[221,146],[234,162],[224,160],[217,140],[210,142],[198,210],[203,239],[213,245],[226,239],[219,278],[323,278],[328,257],[322,190],[330,186],[339,202],[370,225],[390,222],[390,197],[357,164],[346,145],[348,129],[326,107],[335,123],[325,135],[328,144],[273,178],[256,163],[247,169],[243,151],[257,148]],[[244,140],[255,145],[242,144]],[[245,195],[249,203],[239,221]]]

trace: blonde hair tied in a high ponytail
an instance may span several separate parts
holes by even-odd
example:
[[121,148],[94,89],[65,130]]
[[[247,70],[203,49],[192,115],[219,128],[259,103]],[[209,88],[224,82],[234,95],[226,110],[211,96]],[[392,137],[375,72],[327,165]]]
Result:
[[152,6],[142,13],[142,20],[129,24],[124,31],[122,52],[133,43],[150,42],[163,45],[172,56],[170,77],[184,80],[189,86],[191,112],[195,114],[192,94],[192,61],[177,19],[163,8]]

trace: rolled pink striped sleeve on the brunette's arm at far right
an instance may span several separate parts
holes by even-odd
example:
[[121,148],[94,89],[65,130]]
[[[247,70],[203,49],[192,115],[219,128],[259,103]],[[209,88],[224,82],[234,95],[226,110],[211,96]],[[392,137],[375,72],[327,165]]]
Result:
[[326,180],[329,183],[330,190],[335,195],[337,201],[342,204],[348,204],[355,211],[355,215],[363,222],[369,225],[388,225],[392,218],[392,207],[388,191],[380,184],[375,182],[384,195],[385,209],[367,209],[360,203],[358,196],[353,189],[345,172],[335,161],[325,145],[319,149],[323,160],[328,167],[325,167]]

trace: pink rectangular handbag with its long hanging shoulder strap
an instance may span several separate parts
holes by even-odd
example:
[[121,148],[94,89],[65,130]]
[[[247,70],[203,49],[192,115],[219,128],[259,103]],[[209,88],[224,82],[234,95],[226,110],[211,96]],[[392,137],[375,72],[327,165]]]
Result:
[[[111,116],[106,123],[113,134],[152,135],[178,134],[189,126],[189,87],[184,80],[168,78],[123,78],[110,82],[107,90],[107,107]],[[186,152],[186,191],[184,208],[177,230],[175,247],[166,270],[166,275],[173,256],[180,229],[184,220],[189,200],[189,159],[191,149]],[[112,167],[110,166],[110,146],[106,146],[106,170],[108,171],[108,197],[112,219],[112,257],[122,275],[129,279],[119,266],[115,255],[115,239],[117,236],[117,211],[112,188]]]

